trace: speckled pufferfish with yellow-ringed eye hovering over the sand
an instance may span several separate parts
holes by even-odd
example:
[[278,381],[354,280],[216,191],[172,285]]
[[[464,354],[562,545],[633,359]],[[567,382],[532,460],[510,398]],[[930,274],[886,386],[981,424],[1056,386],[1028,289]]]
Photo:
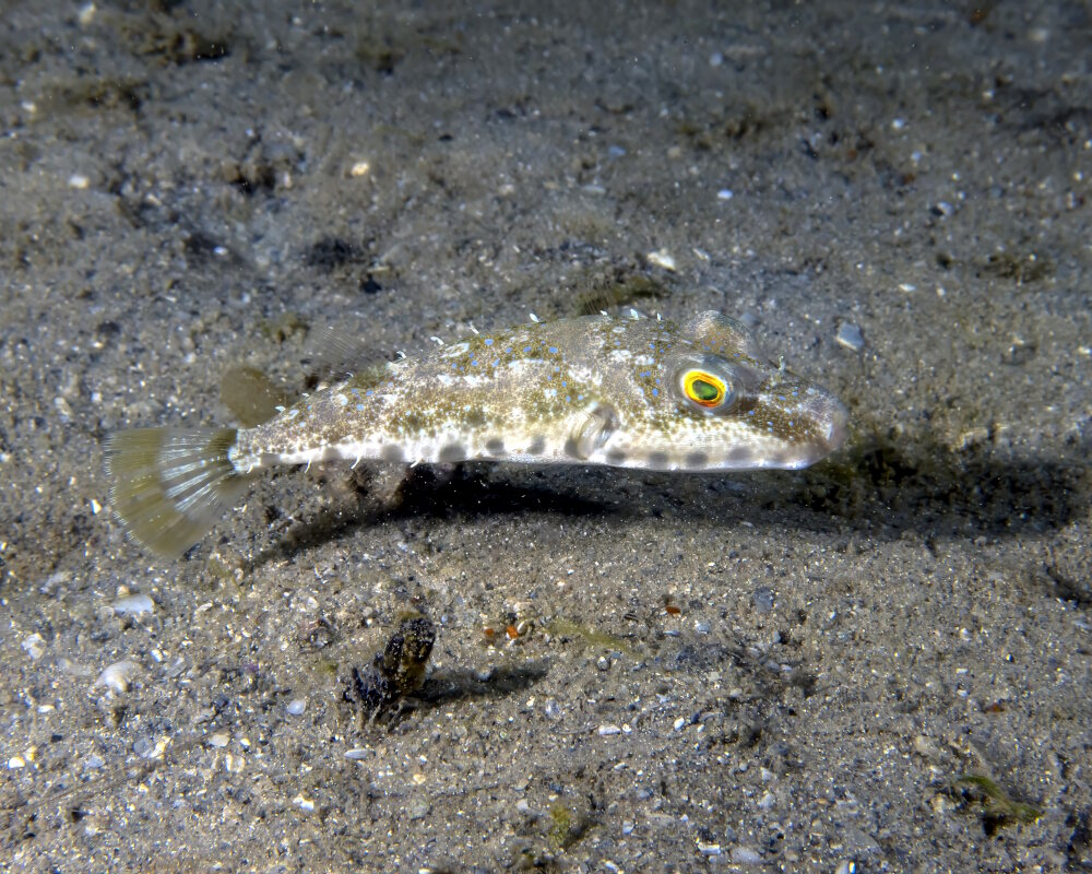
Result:
[[367,368],[253,428],[146,428],[105,442],[130,538],[177,556],[259,471],[341,459],[467,460],[710,472],[806,468],[847,413],[769,364],[715,311],[532,322]]

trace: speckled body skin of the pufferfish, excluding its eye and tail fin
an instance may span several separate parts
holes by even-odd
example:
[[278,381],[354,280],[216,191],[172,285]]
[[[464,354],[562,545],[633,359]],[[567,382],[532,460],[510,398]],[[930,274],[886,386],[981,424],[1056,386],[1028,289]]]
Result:
[[[684,391],[708,371],[729,398]],[[716,312],[679,324],[589,316],[472,336],[302,399],[239,432],[240,471],[328,459],[609,464],[655,470],[802,468],[835,449],[845,410],[761,361]]]

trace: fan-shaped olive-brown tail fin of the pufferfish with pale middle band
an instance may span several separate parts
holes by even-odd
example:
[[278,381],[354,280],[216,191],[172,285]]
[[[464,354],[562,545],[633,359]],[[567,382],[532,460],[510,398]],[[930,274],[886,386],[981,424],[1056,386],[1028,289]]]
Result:
[[177,557],[241,494],[249,477],[228,451],[234,428],[142,428],[106,438],[110,504],[131,540]]

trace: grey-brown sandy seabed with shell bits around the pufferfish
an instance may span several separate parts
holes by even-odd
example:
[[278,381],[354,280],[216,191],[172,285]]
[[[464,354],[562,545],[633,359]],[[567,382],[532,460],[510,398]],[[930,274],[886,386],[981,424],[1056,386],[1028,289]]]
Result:
[[[8,3],[0,866],[1092,869],[1090,16]],[[748,319],[851,445],[316,465],[176,562],[111,518],[105,435],[306,388],[318,327],[603,300]]]

